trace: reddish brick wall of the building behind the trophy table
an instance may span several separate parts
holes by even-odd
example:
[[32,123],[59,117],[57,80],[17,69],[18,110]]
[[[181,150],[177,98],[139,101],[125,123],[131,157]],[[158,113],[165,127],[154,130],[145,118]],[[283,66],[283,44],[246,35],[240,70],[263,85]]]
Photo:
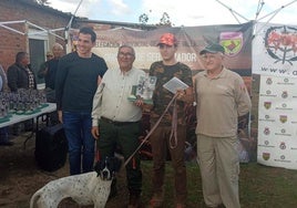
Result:
[[[28,3],[23,0],[0,1],[0,22],[27,20],[35,25],[50,30],[64,28],[70,18],[70,14],[60,12],[49,7]],[[16,23],[6,25],[24,33],[25,25],[28,24]],[[63,37],[63,31],[59,32],[58,34]],[[50,35],[50,45],[52,45],[55,41],[64,44],[63,40],[58,39],[54,35]],[[29,52],[28,37],[0,27],[0,64],[4,67],[4,70],[14,63],[16,54],[19,51]]]

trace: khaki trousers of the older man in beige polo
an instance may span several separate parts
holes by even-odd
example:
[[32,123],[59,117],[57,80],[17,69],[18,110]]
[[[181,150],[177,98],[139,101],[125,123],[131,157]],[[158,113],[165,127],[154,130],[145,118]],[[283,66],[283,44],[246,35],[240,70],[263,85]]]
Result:
[[204,201],[209,207],[224,204],[239,208],[239,158],[237,137],[197,135],[197,156],[202,175]]

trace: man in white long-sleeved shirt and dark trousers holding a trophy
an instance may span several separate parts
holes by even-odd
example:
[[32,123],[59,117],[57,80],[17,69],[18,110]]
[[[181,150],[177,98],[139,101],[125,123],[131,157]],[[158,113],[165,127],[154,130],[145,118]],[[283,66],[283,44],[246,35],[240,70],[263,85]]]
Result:
[[[133,67],[134,60],[135,52],[132,46],[120,46],[120,67],[106,71],[94,95],[92,134],[98,141],[100,158],[113,156],[115,147],[120,147],[127,159],[140,145],[143,101],[131,102],[127,97],[131,95],[132,86],[137,85],[139,77],[145,73]],[[130,191],[129,208],[141,206],[140,165],[140,155],[135,154],[125,167]]]

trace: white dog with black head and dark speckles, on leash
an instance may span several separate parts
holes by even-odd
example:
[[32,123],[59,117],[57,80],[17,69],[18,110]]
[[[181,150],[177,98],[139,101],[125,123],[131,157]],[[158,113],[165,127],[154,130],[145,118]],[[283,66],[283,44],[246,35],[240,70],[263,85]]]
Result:
[[121,164],[116,157],[106,157],[96,163],[94,171],[52,180],[35,191],[30,208],[57,208],[68,197],[80,206],[94,205],[94,208],[103,208],[109,199],[112,179]]

